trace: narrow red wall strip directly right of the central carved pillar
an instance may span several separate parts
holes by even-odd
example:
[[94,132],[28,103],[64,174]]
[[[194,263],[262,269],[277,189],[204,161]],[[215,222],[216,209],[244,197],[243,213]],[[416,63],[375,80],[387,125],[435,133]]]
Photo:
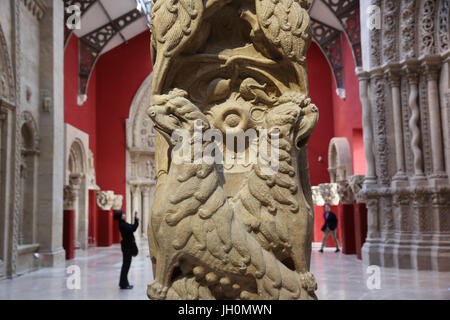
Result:
[[[308,143],[311,185],[330,182],[328,144],[334,135],[332,74],[322,51],[312,43],[307,55],[309,95],[319,108],[319,122]],[[322,162],[319,162],[322,157]]]

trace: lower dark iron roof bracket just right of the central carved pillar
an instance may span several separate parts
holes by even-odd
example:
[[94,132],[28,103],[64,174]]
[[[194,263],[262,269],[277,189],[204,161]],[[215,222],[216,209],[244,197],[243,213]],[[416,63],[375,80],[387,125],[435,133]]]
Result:
[[336,88],[345,95],[344,64],[341,31],[321,21],[311,18],[311,31],[314,41],[325,55],[333,72]]

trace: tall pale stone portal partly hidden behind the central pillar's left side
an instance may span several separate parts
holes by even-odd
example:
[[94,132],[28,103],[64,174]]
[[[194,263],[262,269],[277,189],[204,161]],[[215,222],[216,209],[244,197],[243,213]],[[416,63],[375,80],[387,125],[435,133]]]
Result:
[[133,212],[141,214],[142,223],[136,233],[143,237],[147,235],[156,185],[155,130],[146,113],[150,106],[152,78],[153,74],[150,74],[137,91],[126,120],[127,218],[134,222]]

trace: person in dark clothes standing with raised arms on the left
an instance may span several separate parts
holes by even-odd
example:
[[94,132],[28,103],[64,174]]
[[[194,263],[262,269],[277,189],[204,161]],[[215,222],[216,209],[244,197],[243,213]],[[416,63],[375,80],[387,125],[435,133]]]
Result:
[[134,232],[139,226],[139,217],[135,213],[134,224],[127,223],[126,215],[122,210],[114,212],[114,220],[119,221],[119,230],[122,235],[122,269],[120,270],[120,289],[133,289],[133,286],[128,283],[128,271],[130,270],[131,259],[138,255],[138,248],[136,240],[134,239]]

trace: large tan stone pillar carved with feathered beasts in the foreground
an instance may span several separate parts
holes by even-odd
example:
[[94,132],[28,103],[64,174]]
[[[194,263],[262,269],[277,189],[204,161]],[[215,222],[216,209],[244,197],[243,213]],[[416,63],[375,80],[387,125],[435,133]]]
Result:
[[[318,121],[307,86],[309,2],[154,1],[151,299],[316,298],[306,154]],[[177,139],[180,130],[193,138]],[[246,135],[243,149],[229,147],[233,134],[250,131],[258,134]],[[270,152],[261,151],[263,141]],[[180,143],[192,156],[175,161]],[[195,160],[211,150],[214,159],[234,160]]]

